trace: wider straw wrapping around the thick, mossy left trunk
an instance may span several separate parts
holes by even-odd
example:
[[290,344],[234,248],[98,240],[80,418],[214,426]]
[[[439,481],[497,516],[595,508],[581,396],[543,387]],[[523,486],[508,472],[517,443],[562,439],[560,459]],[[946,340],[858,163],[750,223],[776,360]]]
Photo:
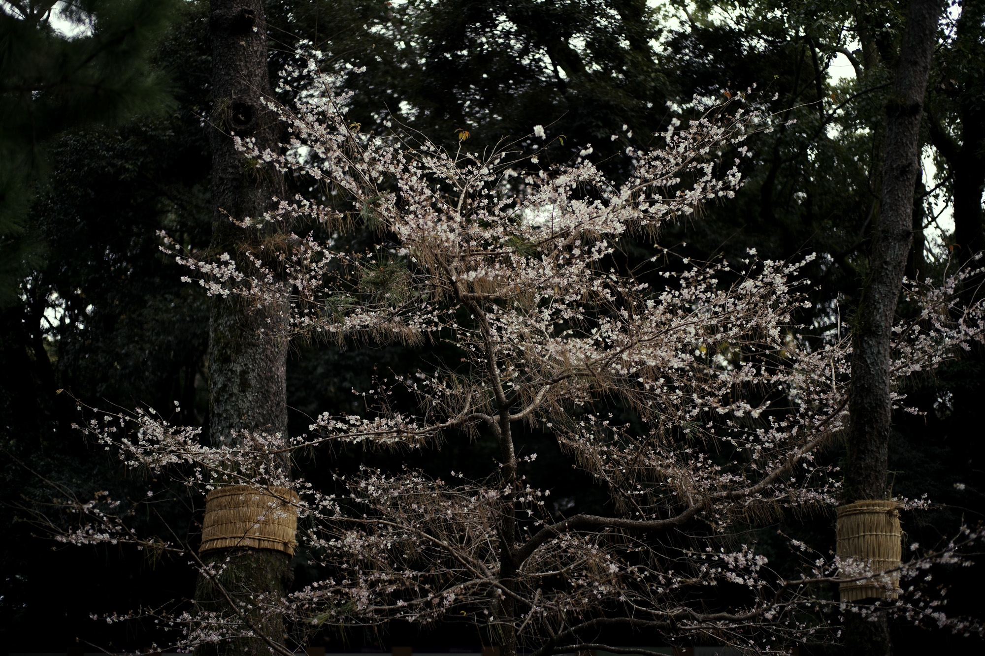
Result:
[[297,493],[287,488],[229,486],[209,492],[199,554],[248,547],[294,556],[297,500]]

